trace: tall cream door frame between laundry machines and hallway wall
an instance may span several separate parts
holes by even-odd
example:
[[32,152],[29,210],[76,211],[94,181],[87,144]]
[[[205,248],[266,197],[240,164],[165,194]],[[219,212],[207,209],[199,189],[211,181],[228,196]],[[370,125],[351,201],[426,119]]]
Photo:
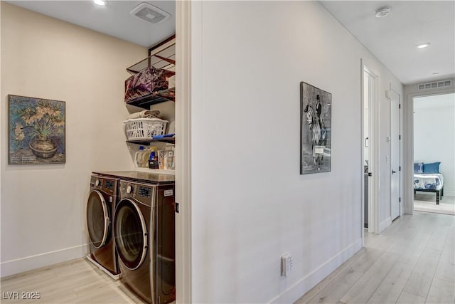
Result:
[[[192,1],[176,1],[176,303],[192,303]],[[194,39],[194,38],[193,38]],[[193,81],[194,82],[194,81]]]

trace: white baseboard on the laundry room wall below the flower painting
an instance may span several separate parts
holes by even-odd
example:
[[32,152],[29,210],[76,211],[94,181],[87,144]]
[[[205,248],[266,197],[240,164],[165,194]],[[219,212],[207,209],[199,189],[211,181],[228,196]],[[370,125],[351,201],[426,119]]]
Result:
[[87,245],[82,244],[70,248],[64,248],[56,251],[37,254],[35,256],[26,256],[11,261],[0,263],[0,277],[11,276],[24,271],[31,271],[55,263],[70,261],[75,258],[82,258],[87,254]]

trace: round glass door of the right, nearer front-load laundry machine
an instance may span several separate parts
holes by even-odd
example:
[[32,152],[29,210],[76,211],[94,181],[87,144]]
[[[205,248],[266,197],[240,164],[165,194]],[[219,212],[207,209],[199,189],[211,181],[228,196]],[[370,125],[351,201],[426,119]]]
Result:
[[131,199],[122,199],[115,208],[115,247],[130,270],[144,262],[147,253],[147,228],[141,210]]

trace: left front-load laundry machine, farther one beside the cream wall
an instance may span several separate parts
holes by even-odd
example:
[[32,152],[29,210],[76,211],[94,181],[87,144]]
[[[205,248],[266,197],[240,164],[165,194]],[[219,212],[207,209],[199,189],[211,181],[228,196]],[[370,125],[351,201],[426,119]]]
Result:
[[114,279],[119,278],[112,224],[118,202],[119,179],[92,174],[87,199],[87,231],[90,253],[87,259]]

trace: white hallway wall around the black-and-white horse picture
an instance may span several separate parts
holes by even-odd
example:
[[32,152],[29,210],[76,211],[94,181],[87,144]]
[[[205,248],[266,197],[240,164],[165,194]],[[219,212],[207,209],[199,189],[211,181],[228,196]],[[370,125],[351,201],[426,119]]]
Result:
[[[389,185],[385,90],[402,85],[318,2],[203,1],[191,14],[193,303],[291,303],[361,247],[360,58],[380,77]],[[299,175],[300,81],[332,93],[328,173]]]

